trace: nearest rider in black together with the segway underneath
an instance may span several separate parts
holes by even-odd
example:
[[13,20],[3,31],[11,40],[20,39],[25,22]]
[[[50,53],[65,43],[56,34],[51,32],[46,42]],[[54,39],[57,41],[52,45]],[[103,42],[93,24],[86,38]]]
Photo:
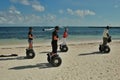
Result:
[[51,42],[52,52],[47,54],[48,62],[51,63],[54,67],[58,67],[62,63],[61,58],[57,54],[57,48],[58,48],[57,42],[58,42],[58,39],[59,39],[58,31],[59,31],[59,27],[56,26],[54,31],[52,32],[52,42]]

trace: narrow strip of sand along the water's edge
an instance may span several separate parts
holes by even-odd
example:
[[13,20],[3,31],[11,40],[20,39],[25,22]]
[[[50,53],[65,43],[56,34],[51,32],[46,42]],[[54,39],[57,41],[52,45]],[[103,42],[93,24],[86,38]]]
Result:
[[[102,40],[84,40],[84,41],[67,41],[67,45],[71,46],[71,45],[87,45],[87,44],[102,44]],[[112,40],[111,43],[120,43],[120,40]],[[61,44],[61,41],[58,42],[58,46]],[[42,46],[48,46],[51,47],[51,42],[47,42],[47,43],[34,43],[33,44],[34,48],[36,47],[42,47]],[[13,45],[0,45],[0,49],[10,49],[10,48],[27,48],[28,47],[28,43],[23,43],[23,44],[13,44]]]

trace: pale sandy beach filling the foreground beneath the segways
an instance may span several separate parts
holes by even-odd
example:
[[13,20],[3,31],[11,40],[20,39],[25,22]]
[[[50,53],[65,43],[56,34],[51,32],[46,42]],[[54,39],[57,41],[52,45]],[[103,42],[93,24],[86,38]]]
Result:
[[99,53],[100,42],[68,42],[68,52],[59,52],[62,64],[47,62],[49,44],[35,44],[33,59],[24,59],[26,44],[0,46],[0,80],[120,80],[120,41],[109,44],[111,52]]

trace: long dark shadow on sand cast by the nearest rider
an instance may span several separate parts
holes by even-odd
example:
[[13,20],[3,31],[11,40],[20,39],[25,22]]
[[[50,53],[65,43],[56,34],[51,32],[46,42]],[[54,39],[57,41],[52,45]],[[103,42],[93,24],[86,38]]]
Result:
[[25,65],[25,66],[16,66],[9,68],[9,70],[22,70],[22,69],[31,69],[31,68],[39,68],[39,69],[44,69],[44,68],[52,68],[53,66],[50,63],[40,63],[36,65]]

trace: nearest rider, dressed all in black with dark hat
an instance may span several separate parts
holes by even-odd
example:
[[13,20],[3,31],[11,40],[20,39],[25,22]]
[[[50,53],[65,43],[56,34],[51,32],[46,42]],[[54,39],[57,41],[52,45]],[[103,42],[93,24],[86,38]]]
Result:
[[51,45],[52,45],[52,53],[51,55],[55,55],[57,54],[57,48],[58,48],[58,31],[59,31],[59,26],[56,26],[54,31],[52,32],[52,42],[51,42]]

